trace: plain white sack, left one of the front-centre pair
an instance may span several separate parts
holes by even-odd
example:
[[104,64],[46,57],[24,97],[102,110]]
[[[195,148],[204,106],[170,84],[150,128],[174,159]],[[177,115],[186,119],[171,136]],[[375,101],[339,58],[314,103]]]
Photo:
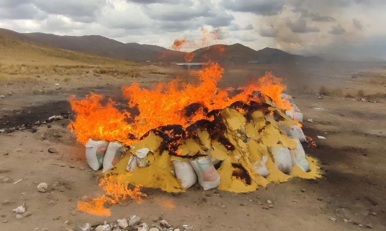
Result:
[[197,183],[195,169],[188,161],[173,160],[174,174],[183,189],[188,189]]

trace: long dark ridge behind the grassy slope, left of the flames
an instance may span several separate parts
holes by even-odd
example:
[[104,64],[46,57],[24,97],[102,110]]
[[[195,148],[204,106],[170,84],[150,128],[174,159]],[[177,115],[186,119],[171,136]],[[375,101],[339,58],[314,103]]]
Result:
[[23,35],[31,41],[46,46],[135,62],[181,61],[185,55],[183,52],[172,51],[160,46],[125,44],[100,35],[60,36],[45,33],[24,33]]

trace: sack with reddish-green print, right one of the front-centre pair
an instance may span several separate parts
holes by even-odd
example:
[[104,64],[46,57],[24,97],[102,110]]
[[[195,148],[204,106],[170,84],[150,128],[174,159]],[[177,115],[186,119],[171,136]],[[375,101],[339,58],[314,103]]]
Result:
[[191,166],[195,169],[198,183],[204,190],[216,188],[220,185],[220,175],[210,158],[202,158],[190,161]]

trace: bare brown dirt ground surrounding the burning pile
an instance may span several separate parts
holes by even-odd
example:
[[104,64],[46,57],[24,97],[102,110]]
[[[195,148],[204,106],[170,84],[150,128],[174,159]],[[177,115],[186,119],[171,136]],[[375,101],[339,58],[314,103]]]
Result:
[[[292,179],[246,194],[204,191],[199,186],[181,194],[144,188],[148,197],[141,204],[127,200],[112,205],[110,217],[77,211],[78,200],[95,197],[102,189],[98,186],[100,175],[89,170],[85,161],[84,147],[66,128],[69,119],[52,122],[51,128],[43,124],[34,126],[36,131],[0,134],[0,229],[66,230],[85,222],[111,222],[137,215],[148,224],[162,217],[173,227],[190,224],[195,230],[385,230],[386,87],[370,83],[371,76],[384,78],[385,69],[384,63],[367,63],[236,66],[226,70],[221,87],[243,85],[267,70],[286,79],[286,92],[293,95],[304,113],[304,132],[317,144],[303,144],[304,148],[309,156],[319,160],[323,178]],[[181,80],[187,79],[186,72],[177,72]],[[352,78],[358,72],[366,74]],[[0,98],[0,130],[71,111],[66,101],[71,94],[81,98],[94,91],[126,109],[120,93],[122,85],[140,82],[150,87],[154,82],[172,78],[148,74],[117,80],[108,75],[86,74],[72,76],[71,81],[59,85],[55,85],[55,76],[0,82],[0,95],[5,96]],[[371,102],[361,101],[363,97],[343,97],[339,95],[342,92],[319,99],[322,85],[339,87],[343,94],[363,89]],[[49,153],[48,148],[56,148],[59,153]],[[45,193],[37,190],[41,182],[48,184]],[[274,205],[268,210],[262,208],[268,205],[267,200]],[[32,215],[16,219],[12,209],[23,203]]]

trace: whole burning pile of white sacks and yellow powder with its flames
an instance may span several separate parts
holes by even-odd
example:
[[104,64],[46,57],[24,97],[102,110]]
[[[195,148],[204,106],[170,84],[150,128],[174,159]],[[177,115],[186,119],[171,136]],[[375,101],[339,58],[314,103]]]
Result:
[[86,152],[95,153],[90,166],[103,165],[103,172],[121,176],[122,183],[170,192],[198,179],[204,189],[246,192],[293,176],[318,177],[301,145],[306,139],[300,126],[285,112],[293,109],[280,98],[281,80],[267,72],[245,87],[221,90],[222,73],[209,62],[192,72],[198,85],[123,87],[129,106],[139,110],[134,120],[110,99],[102,105],[101,95],[73,96],[69,102],[77,117],[69,128]]

